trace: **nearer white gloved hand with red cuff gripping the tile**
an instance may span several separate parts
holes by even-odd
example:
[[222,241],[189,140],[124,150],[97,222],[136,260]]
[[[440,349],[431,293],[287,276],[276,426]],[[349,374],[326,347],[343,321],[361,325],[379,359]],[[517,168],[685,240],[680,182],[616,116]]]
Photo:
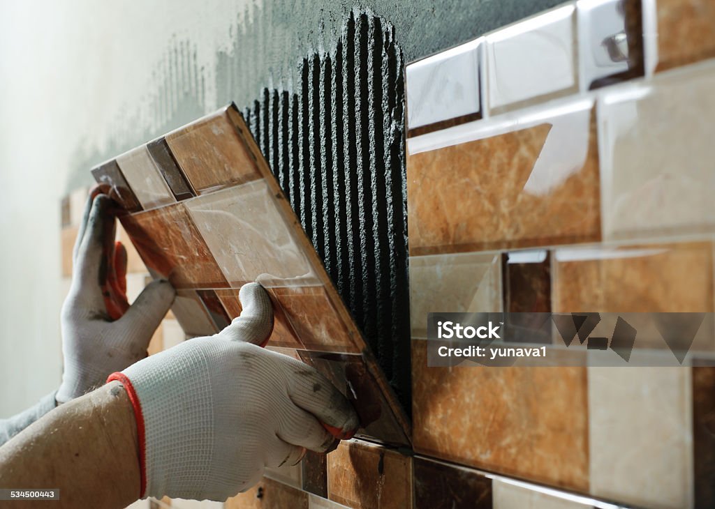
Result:
[[348,431],[358,415],[315,369],[260,348],[272,330],[270,298],[257,283],[220,333],[195,338],[114,373],[134,406],[141,498],[226,500],[265,466],[295,464],[305,448],[337,442],[320,422]]

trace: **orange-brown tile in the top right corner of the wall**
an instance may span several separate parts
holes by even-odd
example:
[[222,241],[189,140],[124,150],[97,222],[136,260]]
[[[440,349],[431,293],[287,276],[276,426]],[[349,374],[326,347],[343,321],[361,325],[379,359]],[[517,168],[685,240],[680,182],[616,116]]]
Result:
[[658,70],[715,56],[712,0],[658,0]]

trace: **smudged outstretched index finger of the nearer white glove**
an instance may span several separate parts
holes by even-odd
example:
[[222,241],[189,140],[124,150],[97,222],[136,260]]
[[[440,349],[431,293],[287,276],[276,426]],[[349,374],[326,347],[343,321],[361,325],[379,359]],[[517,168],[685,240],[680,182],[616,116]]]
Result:
[[284,356],[290,399],[315,415],[323,425],[337,428],[336,435],[351,436],[360,427],[360,419],[350,401],[314,368]]

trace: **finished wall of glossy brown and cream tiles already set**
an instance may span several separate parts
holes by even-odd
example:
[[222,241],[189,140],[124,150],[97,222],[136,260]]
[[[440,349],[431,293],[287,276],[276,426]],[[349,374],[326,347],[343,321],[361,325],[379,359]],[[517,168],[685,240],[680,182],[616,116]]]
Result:
[[[713,27],[581,0],[410,64],[413,449],[350,440],[225,507],[714,507],[715,368],[427,368],[423,341],[429,311],[715,311]],[[170,313],[152,351],[183,339]]]

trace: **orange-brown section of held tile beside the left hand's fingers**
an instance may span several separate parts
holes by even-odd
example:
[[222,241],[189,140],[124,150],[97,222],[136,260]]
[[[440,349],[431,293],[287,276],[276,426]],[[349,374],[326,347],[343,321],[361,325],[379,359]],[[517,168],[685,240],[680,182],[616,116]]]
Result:
[[167,278],[174,288],[228,286],[182,204],[122,216],[122,226],[149,270]]

